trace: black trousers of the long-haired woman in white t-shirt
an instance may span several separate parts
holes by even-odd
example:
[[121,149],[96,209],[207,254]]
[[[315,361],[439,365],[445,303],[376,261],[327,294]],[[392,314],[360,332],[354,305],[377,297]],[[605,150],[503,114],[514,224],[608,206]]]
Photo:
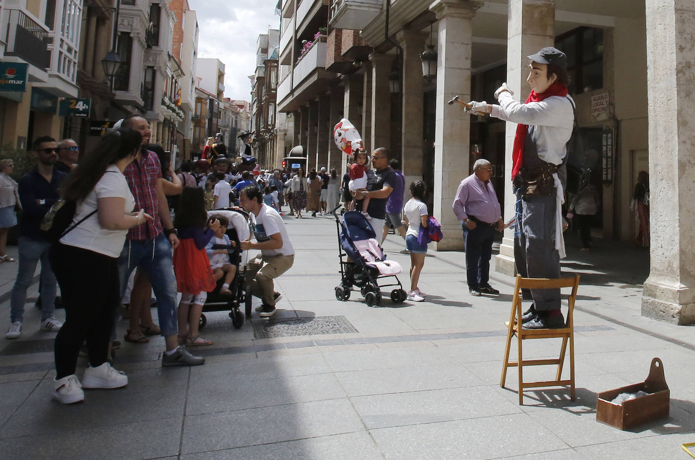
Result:
[[54,348],[56,378],[62,379],[75,373],[85,340],[92,367],[108,359],[111,328],[120,304],[118,265],[117,258],[60,243],[51,247],[49,260],[65,306],[65,324]]

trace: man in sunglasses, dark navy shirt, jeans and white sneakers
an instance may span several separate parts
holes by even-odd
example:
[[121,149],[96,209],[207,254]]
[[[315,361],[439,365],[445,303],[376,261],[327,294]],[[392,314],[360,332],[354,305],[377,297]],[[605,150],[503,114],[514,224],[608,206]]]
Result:
[[58,201],[58,186],[67,174],[54,169],[58,160],[56,140],[49,135],[36,138],[32,144],[36,167],[19,179],[19,200],[24,212],[19,220],[19,263],[17,279],[10,296],[10,329],[6,338],[22,334],[26,290],[31,285],[36,264],[41,261],[41,325],[42,331],[57,332],[63,323],[53,313],[56,299],[56,275],[51,270],[48,252],[51,243],[43,236],[39,226],[44,215]]

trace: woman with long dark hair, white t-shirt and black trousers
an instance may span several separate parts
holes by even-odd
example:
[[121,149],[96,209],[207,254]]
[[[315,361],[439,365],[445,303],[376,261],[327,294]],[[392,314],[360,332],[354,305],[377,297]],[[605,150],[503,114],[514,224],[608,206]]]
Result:
[[[152,219],[133,213],[135,200],[123,170],[140,151],[142,136],[128,128],[108,131],[65,180],[63,199],[76,202],[69,231],[51,247],[49,260],[65,305],[55,344],[53,397],[84,399],[82,388],[119,388],[128,377],[108,363],[108,343],[120,304],[117,258],[128,229]],[[86,341],[90,365],[80,382],[77,356]]]

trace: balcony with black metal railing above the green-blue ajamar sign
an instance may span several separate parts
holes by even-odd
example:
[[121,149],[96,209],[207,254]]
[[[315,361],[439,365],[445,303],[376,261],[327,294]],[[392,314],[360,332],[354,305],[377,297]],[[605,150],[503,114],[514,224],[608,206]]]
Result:
[[17,56],[42,70],[51,67],[48,45],[53,38],[47,27],[35,22],[22,10],[7,10],[6,56]]

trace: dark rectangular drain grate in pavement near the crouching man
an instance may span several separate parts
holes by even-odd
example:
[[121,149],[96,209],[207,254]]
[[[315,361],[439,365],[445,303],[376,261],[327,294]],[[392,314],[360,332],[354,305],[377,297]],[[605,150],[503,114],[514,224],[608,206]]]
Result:
[[357,332],[345,316],[315,316],[281,320],[252,320],[256,338],[353,334]]

